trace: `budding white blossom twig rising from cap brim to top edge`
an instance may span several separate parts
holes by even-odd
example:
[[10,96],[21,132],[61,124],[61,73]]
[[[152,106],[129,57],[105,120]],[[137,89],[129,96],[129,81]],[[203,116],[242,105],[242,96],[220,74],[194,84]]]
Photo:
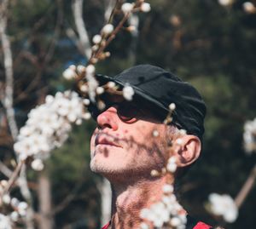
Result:
[[[123,3],[121,6],[117,4],[116,8],[118,9],[113,10],[113,14],[122,12],[123,19],[120,20],[117,26],[113,26],[113,24],[110,23],[112,20],[108,20],[108,24],[102,27],[99,34],[92,37],[92,52],[87,66],[69,66],[67,70],[63,72],[63,77],[67,80],[76,79],[81,94],[83,96],[89,95],[90,100],[93,102],[96,102],[97,94],[102,94],[104,92],[104,89],[99,87],[99,83],[96,81],[94,65],[99,60],[104,60],[110,56],[110,53],[104,50],[116,34],[124,27],[125,21],[132,13],[137,11],[148,12],[151,9],[150,4],[145,3],[145,1],[142,0],[137,0],[134,3]],[[127,31],[132,31],[131,27],[126,29]],[[129,85],[125,85],[123,94],[126,100],[131,100],[134,91]],[[102,103],[98,104],[99,108],[101,108],[101,105]]]

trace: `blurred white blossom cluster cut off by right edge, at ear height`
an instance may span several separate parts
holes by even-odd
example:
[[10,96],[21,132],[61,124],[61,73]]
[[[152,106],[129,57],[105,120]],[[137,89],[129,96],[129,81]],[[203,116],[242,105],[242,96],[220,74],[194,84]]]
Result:
[[244,124],[243,142],[246,152],[256,151],[256,118]]

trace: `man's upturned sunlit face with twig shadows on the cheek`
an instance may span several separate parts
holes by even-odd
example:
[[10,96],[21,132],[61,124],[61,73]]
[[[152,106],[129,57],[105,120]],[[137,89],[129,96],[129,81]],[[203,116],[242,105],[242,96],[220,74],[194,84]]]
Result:
[[126,118],[122,109],[110,106],[96,117],[98,127],[90,140],[90,168],[111,179],[149,175],[165,163],[166,125],[143,118],[147,114],[132,117],[137,111],[129,107],[125,109],[131,117]]

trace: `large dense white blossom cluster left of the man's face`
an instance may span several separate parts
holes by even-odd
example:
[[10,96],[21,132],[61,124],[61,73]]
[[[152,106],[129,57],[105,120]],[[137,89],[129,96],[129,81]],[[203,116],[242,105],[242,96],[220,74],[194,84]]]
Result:
[[49,157],[49,152],[60,147],[67,140],[72,123],[81,124],[82,119],[90,117],[84,111],[83,100],[73,91],[57,92],[47,95],[45,103],[32,109],[26,125],[20,129],[14,145],[20,160],[32,157],[32,169],[44,168],[42,159]]

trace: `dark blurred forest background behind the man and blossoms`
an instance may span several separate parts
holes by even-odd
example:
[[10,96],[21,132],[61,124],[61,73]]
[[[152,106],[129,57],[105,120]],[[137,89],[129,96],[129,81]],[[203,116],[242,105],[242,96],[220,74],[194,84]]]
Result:
[[[138,31],[121,31],[109,46],[111,58],[96,72],[114,74],[134,64],[149,63],[193,83],[207,103],[206,134],[201,159],[181,181],[180,201],[190,215],[209,224],[216,220],[204,209],[211,192],[235,198],[255,163],[242,147],[243,124],[256,117],[256,14],[242,0],[223,6],[217,0],[148,1],[152,10],[139,14]],[[32,107],[46,94],[70,87],[61,76],[71,64],[85,64],[72,14],[73,1],[11,0],[7,34],[15,76],[15,117],[19,128]],[[253,2],[252,2],[253,3]],[[91,38],[104,24],[108,1],[84,0],[84,23]],[[254,1],[256,5],[256,2]],[[0,49],[0,89],[4,87]],[[9,164],[13,140],[0,106],[0,159]],[[90,172],[93,121],[73,129],[66,145],[55,150],[44,169],[52,193],[54,228],[99,228],[101,178]],[[38,173],[28,174],[38,192]],[[1,177],[0,177],[1,178]],[[226,228],[256,224],[255,186],[242,204],[239,218]],[[34,194],[36,195],[36,194]],[[38,199],[35,201],[38,209]]]

